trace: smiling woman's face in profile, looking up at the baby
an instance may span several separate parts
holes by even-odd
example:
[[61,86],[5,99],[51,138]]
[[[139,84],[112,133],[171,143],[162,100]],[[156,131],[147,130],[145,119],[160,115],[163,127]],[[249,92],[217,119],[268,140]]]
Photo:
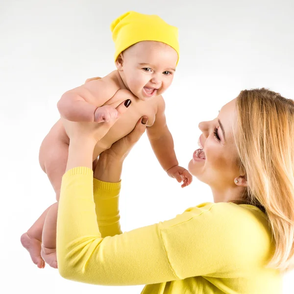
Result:
[[202,131],[198,142],[200,149],[194,152],[188,169],[213,190],[224,191],[234,187],[234,179],[239,176],[237,148],[232,132],[237,120],[235,104],[236,99],[224,105],[213,121],[199,123]]

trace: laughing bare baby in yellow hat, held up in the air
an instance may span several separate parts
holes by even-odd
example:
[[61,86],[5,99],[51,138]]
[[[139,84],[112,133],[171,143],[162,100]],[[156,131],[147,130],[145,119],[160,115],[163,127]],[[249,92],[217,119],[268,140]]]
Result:
[[[115,108],[130,99],[128,111],[95,147],[93,161],[130,133],[142,116],[147,116],[147,136],[159,163],[168,175],[183,181],[185,187],[192,176],[178,166],[161,96],[172,83],[179,58],[177,28],[158,16],[131,11],[115,20],[111,31],[117,70],[103,78],[88,79],[84,85],[63,94],[57,104],[60,115],[73,122],[101,123],[115,117]],[[40,165],[49,177],[57,201],[68,149],[69,138],[59,120],[42,142],[39,154]],[[58,202],[51,205],[21,238],[39,268],[44,268],[44,261],[57,268],[57,208]]]

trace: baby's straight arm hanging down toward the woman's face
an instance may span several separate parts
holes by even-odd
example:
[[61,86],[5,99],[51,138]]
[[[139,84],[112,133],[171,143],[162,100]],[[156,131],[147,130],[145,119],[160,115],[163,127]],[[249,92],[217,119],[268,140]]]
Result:
[[163,169],[179,183],[183,181],[183,188],[192,182],[192,175],[178,165],[174,152],[172,134],[169,131],[165,118],[165,102],[161,96],[159,99],[155,122],[152,126],[147,127],[147,136]]

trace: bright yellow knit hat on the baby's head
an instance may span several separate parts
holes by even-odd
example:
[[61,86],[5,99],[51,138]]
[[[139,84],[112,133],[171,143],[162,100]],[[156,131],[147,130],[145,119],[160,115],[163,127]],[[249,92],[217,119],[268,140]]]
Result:
[[176,50],[179,60],[178,29],[157,15],[129,11],[114,20],[110,29],[115,43],[115,61],[123,50],[141,41],[165,43]]

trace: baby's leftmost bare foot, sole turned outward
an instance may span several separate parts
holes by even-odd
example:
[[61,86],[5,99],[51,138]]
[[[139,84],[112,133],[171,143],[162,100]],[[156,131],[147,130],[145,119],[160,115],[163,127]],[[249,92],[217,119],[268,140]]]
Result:
[[30,257],[35,265],[39,269],[44,269],[45,262],[41,257],[41,242],[35,238],[31,238],[27,233],[21,237],[21,243],[25,249],[29,252]]

